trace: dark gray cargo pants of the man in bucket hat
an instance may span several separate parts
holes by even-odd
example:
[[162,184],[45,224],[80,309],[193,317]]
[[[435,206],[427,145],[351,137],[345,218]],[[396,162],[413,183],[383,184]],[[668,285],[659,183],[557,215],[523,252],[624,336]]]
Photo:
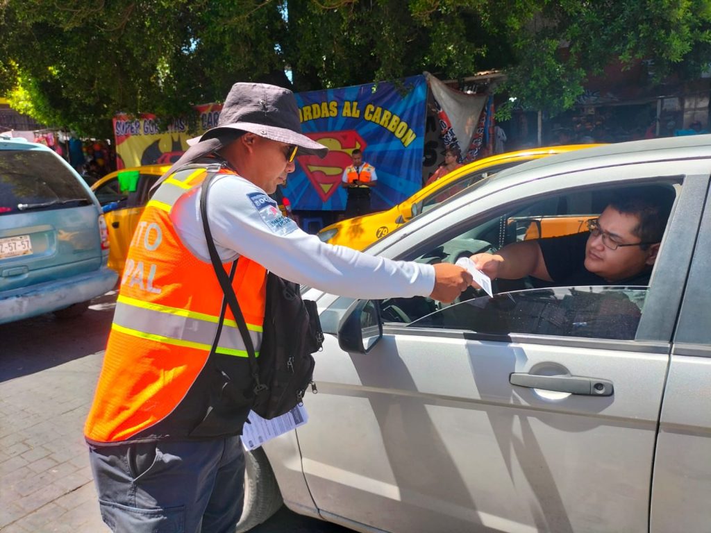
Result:
[[114,533],[223,533],[240,519],[238,436],[89,448],[101,515]]

